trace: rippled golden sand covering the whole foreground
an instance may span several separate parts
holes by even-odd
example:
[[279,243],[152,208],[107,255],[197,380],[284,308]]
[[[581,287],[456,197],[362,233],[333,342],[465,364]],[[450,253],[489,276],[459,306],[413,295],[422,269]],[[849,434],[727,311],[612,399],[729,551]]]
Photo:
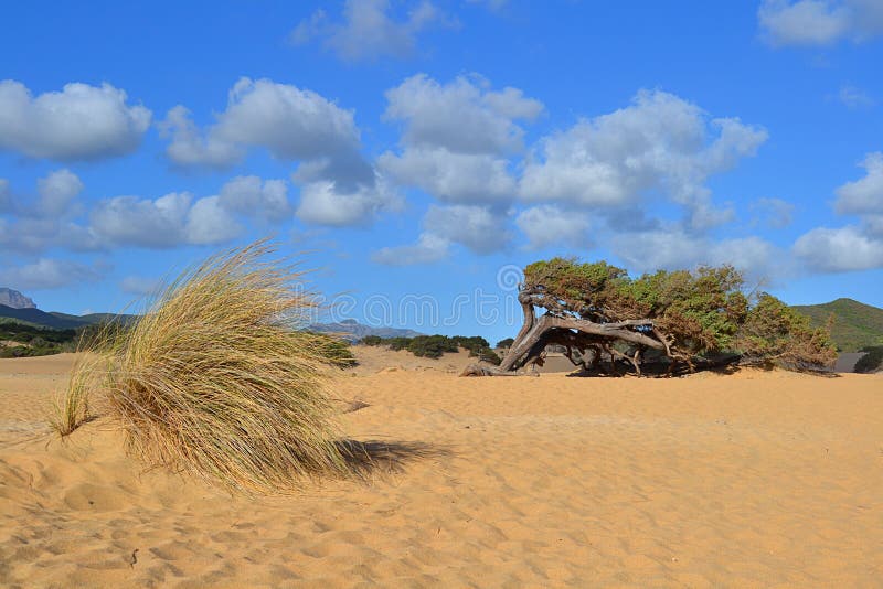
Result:
[[369,404],[341,427],[380,442],[373,481],[257,500],[142,472],[106,420],[53,440],[72,356],[0,361],[0,585],[880,586],[881,375],[458,378],[391,357],[339,392]]

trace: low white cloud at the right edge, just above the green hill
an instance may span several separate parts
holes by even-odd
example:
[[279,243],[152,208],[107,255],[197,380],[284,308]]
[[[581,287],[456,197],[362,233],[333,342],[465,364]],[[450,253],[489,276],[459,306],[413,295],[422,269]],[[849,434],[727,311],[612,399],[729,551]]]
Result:
[[819,227],[801,235],[795,255],[818,271],[839,272],[883,267],[883,238],[865,235],[859,227]]

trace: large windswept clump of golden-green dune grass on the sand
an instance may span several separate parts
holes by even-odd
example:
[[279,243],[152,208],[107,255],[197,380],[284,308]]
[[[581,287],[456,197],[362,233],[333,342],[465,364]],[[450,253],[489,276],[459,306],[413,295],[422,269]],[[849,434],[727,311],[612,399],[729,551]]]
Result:
[[209,258],[99,346],[131,454],[246,492],[345,470],[326,347],[290,329],[315,297],[272,254],[262,240]]

